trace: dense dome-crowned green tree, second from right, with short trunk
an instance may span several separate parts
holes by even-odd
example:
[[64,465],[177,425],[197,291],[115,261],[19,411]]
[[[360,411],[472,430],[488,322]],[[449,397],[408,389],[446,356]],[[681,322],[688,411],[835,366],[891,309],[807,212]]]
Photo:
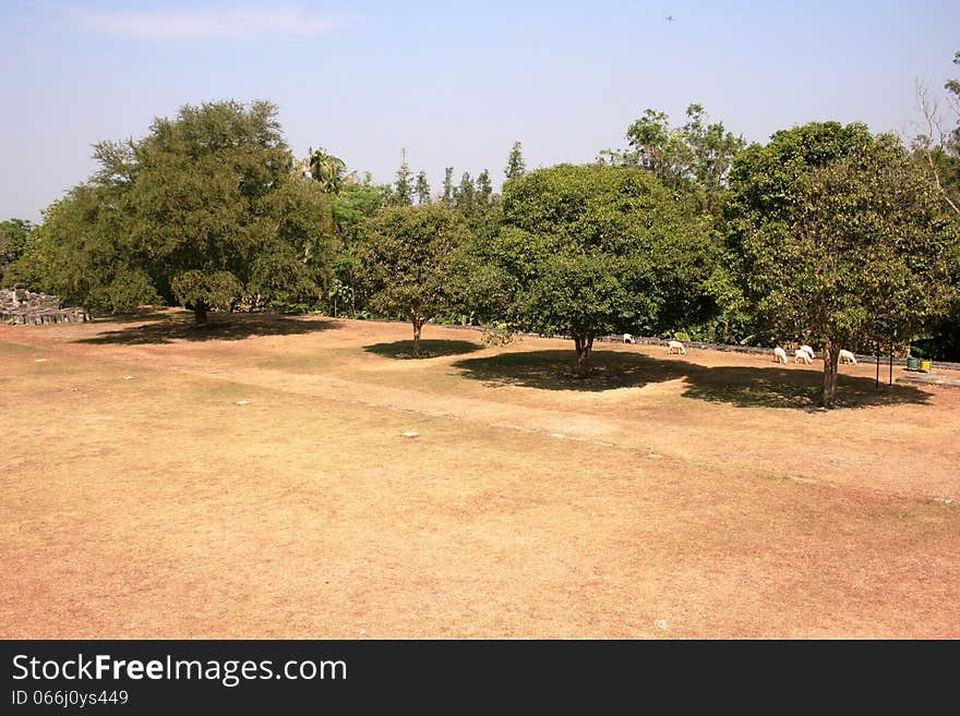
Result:
[[583,377],[597,336],[662,331],[706,310],[706,224],[649,172],[561,165],[505,184],[485,252],[516,283],[514,320],[573,338]]

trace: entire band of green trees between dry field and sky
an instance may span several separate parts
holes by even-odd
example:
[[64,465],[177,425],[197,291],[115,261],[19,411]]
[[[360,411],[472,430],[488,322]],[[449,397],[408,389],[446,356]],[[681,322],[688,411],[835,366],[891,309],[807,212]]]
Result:
[[581,376],[614,331],[796,339],[823,347],[827,405],[841,347],[957,325],[960,122],[910,148],[836,122],[746,146],[694,105],[626,138],[531,172],[517,143],[501,194],[447,168],[434,196],[406,153],[377,185],[324,149],[297,161],[268,102],[188,106],[96,145],[41,226],[0,227],[0,257],[7,281],[92,311],[403,316],[418,350],[437,317],[564,335]]

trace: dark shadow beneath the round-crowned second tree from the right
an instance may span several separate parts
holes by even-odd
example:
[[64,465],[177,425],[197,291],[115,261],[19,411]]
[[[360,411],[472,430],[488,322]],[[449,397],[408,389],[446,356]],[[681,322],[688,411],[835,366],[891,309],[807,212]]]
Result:
[[[636,388],[650,383],[682,378],[686,372],[674,361],[658,361],[646,355],[619,351],[595,351],[593,368],[586,378],[575,371],[576,353],[569,351],[529,351],[501,353],[490,357],[457,361],[454,367],[468,378],[491,386],[523,386],[542,390],[601,391]],[[683,364],[687,365],[687,364]]]

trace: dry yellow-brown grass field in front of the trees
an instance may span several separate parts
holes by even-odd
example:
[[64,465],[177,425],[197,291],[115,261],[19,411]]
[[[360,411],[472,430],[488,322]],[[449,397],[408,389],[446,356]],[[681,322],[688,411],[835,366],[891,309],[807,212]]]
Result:
[[960,638],[956,388],[189,319],[0,326],[0,638]]

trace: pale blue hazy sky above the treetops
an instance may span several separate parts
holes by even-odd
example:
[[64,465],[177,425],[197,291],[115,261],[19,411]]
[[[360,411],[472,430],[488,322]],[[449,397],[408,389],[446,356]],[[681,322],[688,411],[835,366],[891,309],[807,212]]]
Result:
[[[667,16],[672,16],[669,21]],[[187,104],[267,99],[295,155],[324,147],[391,182],[406,148],[503,180],[625,145],[648,107],[692,102],[751,142],[809,121],[910,135],[914,83],[960,76],[960,2],[67,2],[0,0],[0,219],[95,169]]]

